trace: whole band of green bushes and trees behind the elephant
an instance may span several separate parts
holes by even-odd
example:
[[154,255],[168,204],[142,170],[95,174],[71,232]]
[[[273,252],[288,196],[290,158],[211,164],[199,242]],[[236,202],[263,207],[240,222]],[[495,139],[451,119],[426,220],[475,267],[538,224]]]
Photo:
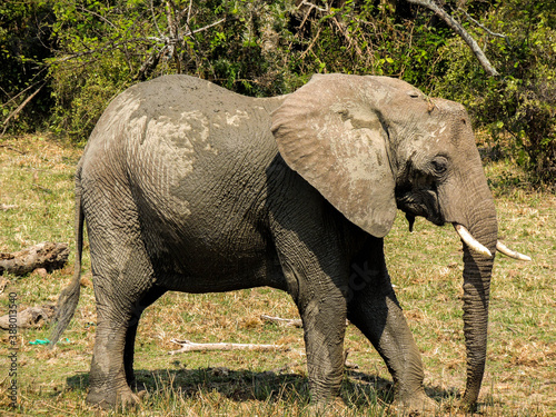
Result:
[[500,77],[486,76],[441,19],[406,0],[8,0],[0,6],[4,123],[24,131],[48,120],[85,141],[111,98],[165,73],[249,96],[290,92],[315,72],[384,75],[464,102],[498,147],[554,180],[556,4],[443,7]]

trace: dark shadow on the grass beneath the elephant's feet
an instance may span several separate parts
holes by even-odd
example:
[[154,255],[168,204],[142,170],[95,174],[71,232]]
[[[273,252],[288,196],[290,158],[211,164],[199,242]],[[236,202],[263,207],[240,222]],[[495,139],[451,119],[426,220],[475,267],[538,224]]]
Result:
[[[276,371],[231,370],[224,367],[196,369],[136,370],[138,385],[143,386],[151,399],[157,397],[203,398],[209,394],[219,395],[232,401],[280,400],[307,405],[310,401],[306,376]],[[87,390],[89,375],[80,374],[67,379],[71,389]],[[426,393],[436,401],[454,399],[453,390],[426,387]],[[389,379],[360,371],[347,370],[341,384],[340,397],[347,405],[365,407],[369,404],[387,406],[394,399],[394,387]]]

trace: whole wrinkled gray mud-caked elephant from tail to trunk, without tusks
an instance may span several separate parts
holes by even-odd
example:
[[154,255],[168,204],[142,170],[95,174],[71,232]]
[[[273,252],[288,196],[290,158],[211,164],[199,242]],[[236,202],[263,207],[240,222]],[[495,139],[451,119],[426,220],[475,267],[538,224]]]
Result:
[[[137,325],[162,294],[269,286],[299,309],[315,400],[338,393],[348,318],[386,361],[396,400],[430,407],[383,237],[399,208],[496,251],[465,109],[384,77],[315,76],[271,99],[187,76],[137,85],[99,120],[76,195],[79,257],[52,340],[78,302],[85,217],[98,314],[88,400],[100,405],[138,400]],[[483,378],[493,261],[464,245],[464,405]]]

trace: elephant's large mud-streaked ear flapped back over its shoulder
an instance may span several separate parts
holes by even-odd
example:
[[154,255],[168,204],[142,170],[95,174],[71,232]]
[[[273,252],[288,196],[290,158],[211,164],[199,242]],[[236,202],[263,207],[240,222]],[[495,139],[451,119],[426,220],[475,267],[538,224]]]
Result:
[[373,236],[396,217],[388,136],[375,103],[386,92],[371,77],[314,76],[272,113],[286,163],[348,220]]

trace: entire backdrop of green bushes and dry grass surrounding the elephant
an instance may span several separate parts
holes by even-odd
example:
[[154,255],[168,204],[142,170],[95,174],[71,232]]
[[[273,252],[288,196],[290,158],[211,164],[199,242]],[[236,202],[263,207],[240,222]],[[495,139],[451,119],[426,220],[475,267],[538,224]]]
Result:
[[[497,261],[490,368],[479,413],[555,415],[556,2],[435,1],[478,42],[496,77],[484,71],[443,19],[415,2],[1,1],[0,203],[13,208],[0,210],[0,251],[71,241],[73,167],[102,110],[132,83],[189,73],[265,97],[290,92],[315,72],[398,77],[468,108],[502,235],[528,241],[516,249],[535,259],[529,266]],[[398,219],[389,236],[390,269],[424,351],[429,395],[449,403],[464,377],[458,245],[451,234],[429,225],[417,229],[417,238],[408,238],[405,229]],[[439,242],[444,255],[436,254]],[[7,288],[23,296],[21,308],[52,304],[70,276],[69,267],[47,278],[8,276]],[[48,337],[48,329],[20,335],[23,379],[17,410],[7,408],[7,373],[0,367],[2,415],[93,414],[83,401],[95,328],[90,276],[82,284],[79,312],[64,335],[68,345],[50,353],[28,345]],[[2,314],[9,290],[0,291]],[[262,322],[260,314],[296,316],[287,296],[267,289],[173,294],[156,304],[147,311],[138,347],[140,376],[155,394],[137,413],[304,414],[305,366],[296,350],[302,348],[301,335]],[[294,350],[171,360],[161,353],[176,348],[169,341],[173,337],[279,342]],[[2,358],[4,341],[2,335]],[[355,330],[348,330],[347,347],[360,370],[346,377],[347,408],[338,413],[394,413],[380,358]]]

